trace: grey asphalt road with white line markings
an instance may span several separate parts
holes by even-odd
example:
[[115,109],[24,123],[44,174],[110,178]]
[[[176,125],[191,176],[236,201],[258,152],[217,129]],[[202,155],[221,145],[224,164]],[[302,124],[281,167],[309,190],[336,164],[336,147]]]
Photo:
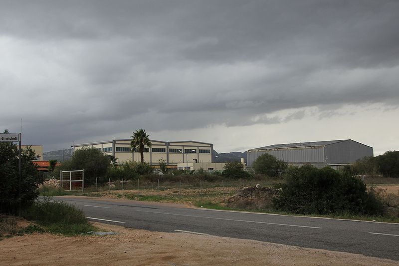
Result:
[[104,198],[63,196],[54,200],[75,204],[91,221],[129,228],[190,231],[399,261],[399,224],[215,211]]

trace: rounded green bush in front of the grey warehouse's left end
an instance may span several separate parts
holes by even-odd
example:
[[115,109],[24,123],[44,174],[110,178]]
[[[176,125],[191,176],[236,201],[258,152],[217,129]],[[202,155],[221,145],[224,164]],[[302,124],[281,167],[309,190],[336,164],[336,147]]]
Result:
[[278,177],[287,170],[287,163],[277,160],[276,157],[270,154],[262,154],[253,162],[253,169],[255,173],[267,175],[269,177]]

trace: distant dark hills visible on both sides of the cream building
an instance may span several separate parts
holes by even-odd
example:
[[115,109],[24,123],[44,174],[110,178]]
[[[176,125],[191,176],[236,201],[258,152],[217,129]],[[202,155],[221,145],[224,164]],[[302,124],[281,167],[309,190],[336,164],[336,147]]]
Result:
[[[43,152],[43,160],[57,160],[58,162],[62,162],[69,160],[71,155],[71,149]],[[246,152],[217,153],[213,150],[213,162],[215,163],[239,162],[241,158],[244,158],[246,162]]]

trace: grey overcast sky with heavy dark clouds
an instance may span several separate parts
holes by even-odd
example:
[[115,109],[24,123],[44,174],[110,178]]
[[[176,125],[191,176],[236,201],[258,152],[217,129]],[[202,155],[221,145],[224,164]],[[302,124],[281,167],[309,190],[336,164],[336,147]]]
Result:
[[1,0],[0,126],[44,151],[129,138],[217,152],[399,150],[398,0]]

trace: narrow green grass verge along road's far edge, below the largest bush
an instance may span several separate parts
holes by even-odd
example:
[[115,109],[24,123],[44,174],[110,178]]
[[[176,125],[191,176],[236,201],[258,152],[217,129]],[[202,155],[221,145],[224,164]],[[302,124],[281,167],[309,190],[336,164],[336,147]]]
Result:
[[385,223],[399,223],[399,217],[387,217],[387,216],[367,216],[367,215],[357,215],[351,214],[347,212],[329,214],[329,215],[320,215],[320,214],[295,214],[284,211],[277,211],[274,209],[268,210],[248,210],[248,209],[237,209],[237,208],[229,208],[221,203],[214,202],[195,202],[194,206],[202,207],[213,210],[225,210],[225,211],[240,211],[240,212],[253,212],[253,213],[267,213],[267,214],[279,214],[279,215],[290,215],[290,216],[305,216],[305,217],[321,217],[321,218],[334,218],[334,219],[345,219],[345,220],[359,220],[359,221],[373,221],[376,222],[385,222]]

